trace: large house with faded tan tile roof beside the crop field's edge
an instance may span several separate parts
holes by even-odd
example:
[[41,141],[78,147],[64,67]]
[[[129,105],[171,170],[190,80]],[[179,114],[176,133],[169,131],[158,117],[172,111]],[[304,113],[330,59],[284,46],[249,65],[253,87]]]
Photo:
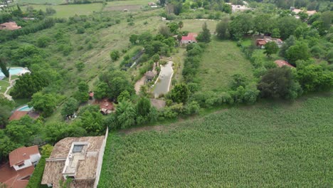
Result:
[[105,149],[105,136],[66,137],[53,147],[46,159],[41,184],[58,188],[59,182],[73,179],[70,187],[97,187]]

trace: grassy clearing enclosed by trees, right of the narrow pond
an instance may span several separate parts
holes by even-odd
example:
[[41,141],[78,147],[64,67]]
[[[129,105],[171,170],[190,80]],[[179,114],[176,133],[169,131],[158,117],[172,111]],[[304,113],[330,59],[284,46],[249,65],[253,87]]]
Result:
[[231,76],[252,78],[252,66],[233,41],[213,39],[203,54],[199,75],[202,90],[228,90]]

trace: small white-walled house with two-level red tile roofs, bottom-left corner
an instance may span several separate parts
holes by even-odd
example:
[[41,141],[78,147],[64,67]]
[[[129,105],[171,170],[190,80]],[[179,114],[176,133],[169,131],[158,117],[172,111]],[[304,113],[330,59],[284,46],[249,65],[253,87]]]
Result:
[[37,145],[17,148],[9,153],[9,163],[0,168],[0,182],[6,187],[26,187],[40,159]]

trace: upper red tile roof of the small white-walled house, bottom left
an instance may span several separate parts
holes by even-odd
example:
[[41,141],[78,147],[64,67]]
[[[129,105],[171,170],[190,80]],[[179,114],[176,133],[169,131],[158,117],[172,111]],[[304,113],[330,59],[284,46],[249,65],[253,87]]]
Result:
[[30,155],[39,153],[38,146],[31,147],[19,147],[16,150],[9,153],[9,164],[13,167],[14,164],[18,164],[24,160],[30,159]]

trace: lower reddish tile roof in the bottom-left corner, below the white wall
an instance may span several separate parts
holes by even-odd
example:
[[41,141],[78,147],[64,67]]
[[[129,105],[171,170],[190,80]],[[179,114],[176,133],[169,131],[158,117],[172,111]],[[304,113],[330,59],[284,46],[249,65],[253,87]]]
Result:
[[16,171],[6,163],[0,167],[0,182],[6,184],[7,187],[24,188],[28,185],[26,177],[30,177],[33,170],[34,167],[30,166]]

